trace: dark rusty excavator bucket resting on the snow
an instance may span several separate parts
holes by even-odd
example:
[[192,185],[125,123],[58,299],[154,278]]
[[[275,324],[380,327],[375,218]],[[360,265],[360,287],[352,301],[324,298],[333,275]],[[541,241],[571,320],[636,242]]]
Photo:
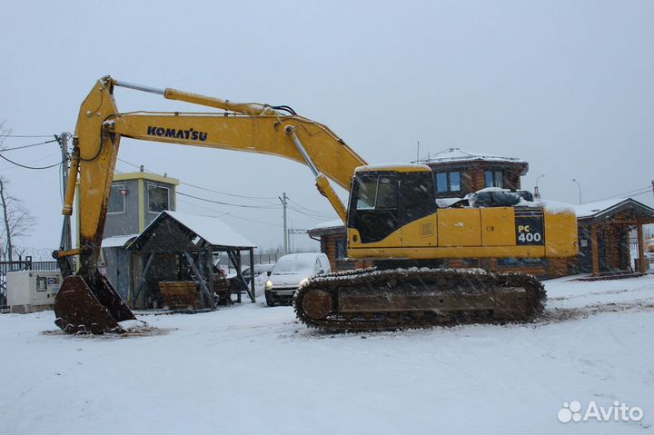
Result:
[[124,333],[118,322],[136,319],[100,273],[88,281],[80,275],[66,277],[54,298],[54,315],[54,323],[68,333]]

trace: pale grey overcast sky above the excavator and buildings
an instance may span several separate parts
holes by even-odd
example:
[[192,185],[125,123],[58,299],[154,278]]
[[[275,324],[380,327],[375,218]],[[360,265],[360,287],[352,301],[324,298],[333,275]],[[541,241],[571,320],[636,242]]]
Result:
[[[15,134],[73,132],[79,104],[111,74],[232,101],[291,105],[329,125],[369,163],[415,160],[418,141],[422,156],[461,147],[519,157],[530,163],[522,187],[531,190],[545,174],[543,197],[562,202],[579,201],[572,178],[584,202],[654,179],[654,2],[136,3],[6,2],[5,127]],[[123,112],[197,110],[124,89],[115,96]],[[5,147],[35,140],[8,138]],[[50,143],[5,155],[45,165],[56,163],[59,149]],[[270,203],[286,192],[296,204],[336,217],[309,169],[277,157],[124,140],[119,158]],[[21,244],[56,247],[57,170],[3,161],[0,173],[38,219]],[[654,203],[651,192],[634,198]],[[179,211],[222,215],[263,248],[282,244],[281,209],[180,200]],[[296,228],[321,222],[289,215]],[[304,235],[294,240],[317,246]]]

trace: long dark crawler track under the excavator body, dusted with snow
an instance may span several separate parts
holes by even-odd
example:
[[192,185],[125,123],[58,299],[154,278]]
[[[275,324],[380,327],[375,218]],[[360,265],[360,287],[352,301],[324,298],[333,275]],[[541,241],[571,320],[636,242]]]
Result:
[[543,311],[542,284],[481,269],[362,269],[313,278],[296,292],[300,321],[328,331],[530,321]]

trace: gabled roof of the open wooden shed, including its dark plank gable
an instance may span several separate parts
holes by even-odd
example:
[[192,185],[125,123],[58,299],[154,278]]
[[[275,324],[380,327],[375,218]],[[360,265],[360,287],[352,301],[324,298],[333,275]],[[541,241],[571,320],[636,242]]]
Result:
[[[147,242],[158,237],[159,229],[163,232],[173,231],[173,242],[184,249],[189,249],[191,244],[197,244],[198,238],[213,246],[243,249],[256,247],[253,242],[218,218],[165,210],[150,222],[127,249],[141,250]],[[183,233],[175,230],[181,230]]]

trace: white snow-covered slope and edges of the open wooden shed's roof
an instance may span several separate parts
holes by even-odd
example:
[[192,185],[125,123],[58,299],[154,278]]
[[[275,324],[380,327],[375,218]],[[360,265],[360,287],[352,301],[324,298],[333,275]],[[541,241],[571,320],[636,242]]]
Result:
[[164,210],[154,218],[153,222],[141,232],[139,236],[130,244],[141,242],[142,239],[149,237],[150,229],[158,225],[166,216],[170,216],[175,221],[181,223],[191,232],[194,232],[198,237],[204,241],[215,246],[233,246],[240,248],[254,248],[256,245],[246,239],[240,232],[234,230],[231,226],[221,221],[220,219],[212,216],[199,216],[196,214],[171,212]]

